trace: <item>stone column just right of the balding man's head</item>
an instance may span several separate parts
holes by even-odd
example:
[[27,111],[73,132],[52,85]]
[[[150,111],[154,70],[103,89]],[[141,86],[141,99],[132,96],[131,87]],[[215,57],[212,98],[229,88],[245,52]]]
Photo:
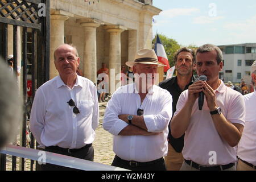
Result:
[[94,19],[77,19],[84,27],[84,76],[97,83],[97,37],[96,29],[101,25]]

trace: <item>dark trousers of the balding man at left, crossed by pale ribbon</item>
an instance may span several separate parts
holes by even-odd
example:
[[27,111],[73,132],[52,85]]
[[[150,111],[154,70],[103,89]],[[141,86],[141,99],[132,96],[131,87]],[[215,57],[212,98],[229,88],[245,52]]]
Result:
[[[75,152],[71,152],[71,154],[69,154],[68,151],[58,150],[57,148],[51,148],[51,147],[46,147],[45,151],[53,152],[56,154],[68,155],[74,158],[85,159],[90,161],[93,161],[93,158],[94,158],[94,149],[92,144],[90,144],[88,147],[81,148],[80,150],[77,150]],[[42,164],[41,169],[42,171],[81,171],[80,169],[57,166],[55,164],[49,164],[49,163]]]

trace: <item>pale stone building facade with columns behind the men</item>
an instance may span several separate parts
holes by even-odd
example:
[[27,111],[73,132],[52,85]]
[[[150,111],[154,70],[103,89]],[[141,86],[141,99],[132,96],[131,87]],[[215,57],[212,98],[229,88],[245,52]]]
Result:
[[55,0],[50,6],[50,78],[58,75],[53,51],[68,43],[77,47],[80,69],[94,83],[101,63],[117,75],[138,49],[151,48],[152,16],[161,11],[152,1],[135,0]]

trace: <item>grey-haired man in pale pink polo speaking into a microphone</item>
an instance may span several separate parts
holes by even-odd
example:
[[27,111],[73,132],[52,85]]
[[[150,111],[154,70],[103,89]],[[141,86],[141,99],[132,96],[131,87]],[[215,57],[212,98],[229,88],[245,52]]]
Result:
[[[180,170],[236,170],[236,148],[245,123],[245,102],[236,90],[218,78],[223,67],[222,52],[212,44],[196,51],[196,71],[207,81],[196,81],[181,93],[171,121],[171,133],[185,133]],[[203,109],[198,97],[203,92]]]

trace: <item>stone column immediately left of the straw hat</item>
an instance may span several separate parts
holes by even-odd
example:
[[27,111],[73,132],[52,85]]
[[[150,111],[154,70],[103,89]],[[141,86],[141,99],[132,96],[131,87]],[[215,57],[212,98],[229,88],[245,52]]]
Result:
[[[123,26],[106,26],[105,30],[109,32],[109,70],[110,80],[109,88],[110,93],[113,93],[119,80],[113,81],[121,73],[121,32],[127,30]],[[111,70],[112,69],[112,70]],[[114,75],[111,74],[114,71]],[[113,85],[114,84],[114,85]]]

